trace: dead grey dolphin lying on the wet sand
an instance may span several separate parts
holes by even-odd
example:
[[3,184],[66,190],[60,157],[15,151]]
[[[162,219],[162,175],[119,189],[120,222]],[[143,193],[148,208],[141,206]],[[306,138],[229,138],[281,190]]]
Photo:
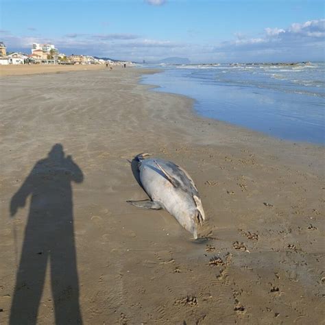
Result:
[[127,201],[141,208],[164,208],[197,239],[197,228],[206,217],[197,188],[184,169],[160,158],[136,156],[143,189],[151,200]]

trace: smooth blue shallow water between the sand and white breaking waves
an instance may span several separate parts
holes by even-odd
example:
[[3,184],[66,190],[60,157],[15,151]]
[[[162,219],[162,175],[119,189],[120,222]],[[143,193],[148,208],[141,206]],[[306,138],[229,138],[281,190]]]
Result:
[[[186,69],[170,68],[163,70],[160,75],[149,75],[142,82],[156,85],[154,91],[160,93],[177,93],[196,99],[194,108],[200,116],[226,121],[284,141],[324,146],[321,95],[316,98],[311,97],[311,93],[298,94],[286,88],[272,88],[272,84],[265,86],[263,82],[266,85],[271,82],[269,77],[261,80],[259,86],[250,83],[248,76],[248,89],[239,86],[245,84],[243,81],[236,84],[226,80],[214,84],[212,76],[219,77],[226,72],[223,70],[226,68],[220,69],[190,69],[187,72]],[[206,77],[202,77],[202,73]],[[229,78],[233,74],[239,78],[245,77],[245,73],[232,71]],[[200,80],[200,77],[203,79]],[[298,102],[301,104],[296,104]]]

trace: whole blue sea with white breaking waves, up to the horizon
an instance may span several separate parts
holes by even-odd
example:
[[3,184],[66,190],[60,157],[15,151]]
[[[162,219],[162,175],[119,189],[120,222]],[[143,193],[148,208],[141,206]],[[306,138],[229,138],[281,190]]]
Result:
[[324,145],[325,64],[145,65],[154,91],[195,99],[198,115],[279,139]]

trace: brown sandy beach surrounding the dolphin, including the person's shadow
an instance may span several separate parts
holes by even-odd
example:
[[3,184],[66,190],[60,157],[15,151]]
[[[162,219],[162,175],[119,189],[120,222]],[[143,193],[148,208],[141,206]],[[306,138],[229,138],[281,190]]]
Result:
[[[324,147],[197,117],[141,73],[1,78],[0,323],[320,324]],[[125,203],[140,152],[193,177],[207,239]]]

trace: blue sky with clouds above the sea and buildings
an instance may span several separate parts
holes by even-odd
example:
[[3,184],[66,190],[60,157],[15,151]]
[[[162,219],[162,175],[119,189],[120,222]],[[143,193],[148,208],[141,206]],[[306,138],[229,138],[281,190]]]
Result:
[[324,61],[324,1],[0,0],[0,41],[135,62]]

